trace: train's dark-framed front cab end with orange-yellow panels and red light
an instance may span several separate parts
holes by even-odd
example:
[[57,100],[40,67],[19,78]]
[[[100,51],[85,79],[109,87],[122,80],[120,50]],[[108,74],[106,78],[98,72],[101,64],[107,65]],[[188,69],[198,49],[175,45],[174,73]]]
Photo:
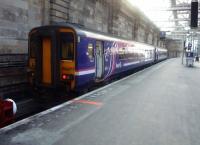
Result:
[[29,82],[37,89],[75,87],[75,36],[71,28],[40,27],[29,34]]

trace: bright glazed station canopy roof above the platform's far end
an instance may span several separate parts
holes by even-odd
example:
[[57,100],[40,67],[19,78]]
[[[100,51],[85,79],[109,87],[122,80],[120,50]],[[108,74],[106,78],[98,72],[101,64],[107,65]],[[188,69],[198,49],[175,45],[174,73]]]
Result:
[[[168,37],[186,37],[190,29],[191,0],[128,0],[138,7]],[[199,25],[199,24],[198,24]],[[195,30],[199,35],[198,29]]]

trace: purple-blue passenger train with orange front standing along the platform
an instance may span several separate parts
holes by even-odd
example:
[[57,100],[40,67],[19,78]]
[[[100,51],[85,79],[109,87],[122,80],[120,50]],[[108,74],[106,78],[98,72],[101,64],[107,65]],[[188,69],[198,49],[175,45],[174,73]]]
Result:
[[67,23],[33,28],[28,48],[28,80],[37,90],[78,91],[167,59],[166,49]]

